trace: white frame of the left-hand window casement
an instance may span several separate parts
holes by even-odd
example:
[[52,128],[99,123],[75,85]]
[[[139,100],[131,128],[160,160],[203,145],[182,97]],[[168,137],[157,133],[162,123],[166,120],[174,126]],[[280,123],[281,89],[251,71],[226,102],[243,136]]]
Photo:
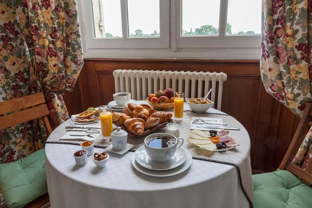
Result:
[[[90,12],[82,12],[84,26],[85,49],[105,48],[169,48],[170,37],[170,4],[167,0],[159,0],[159,36],[129,37],[127,0],[120,0],[122,37],[96,38],[93,20],[92,0],[80,0],[81,8]],[[81,9],[82,10],[82,9]],[[85,10],[85,9],[84,9]],[[92,31],[92,32],[86,32]]]

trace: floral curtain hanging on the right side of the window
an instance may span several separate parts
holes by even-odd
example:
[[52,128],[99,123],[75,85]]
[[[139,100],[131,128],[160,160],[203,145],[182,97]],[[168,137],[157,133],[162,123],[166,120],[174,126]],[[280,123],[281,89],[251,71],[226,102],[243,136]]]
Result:
[[[297,116],[312,102],[312,1],[263,0],[260,71],[266,91]],[[312,157],[310,128],[293,163]]]

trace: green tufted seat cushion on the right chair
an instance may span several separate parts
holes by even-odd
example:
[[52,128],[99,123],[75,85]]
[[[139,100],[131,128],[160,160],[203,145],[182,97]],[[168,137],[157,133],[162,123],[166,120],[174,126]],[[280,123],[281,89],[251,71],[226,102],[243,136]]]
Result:
[[255,208],[312,207],[312,188],[286,170],[252,176]]

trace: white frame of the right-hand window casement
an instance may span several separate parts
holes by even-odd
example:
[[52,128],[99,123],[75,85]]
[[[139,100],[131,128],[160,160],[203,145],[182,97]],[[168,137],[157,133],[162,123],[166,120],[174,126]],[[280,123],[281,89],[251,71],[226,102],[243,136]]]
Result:
[[173,5],[176,11],[176,42],[178,48],[260,48],[261,34],[226,35],[228,0],[220,0],[219,34],[212,36],[182,36],[182,1]]

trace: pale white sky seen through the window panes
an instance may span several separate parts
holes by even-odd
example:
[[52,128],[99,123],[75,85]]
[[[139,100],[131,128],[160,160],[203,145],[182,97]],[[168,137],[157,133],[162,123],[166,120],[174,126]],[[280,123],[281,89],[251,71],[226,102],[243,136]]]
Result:
[[[104,3],[105,32],[122,36],[119,0]],[[193,31],[202,25],[219,25],[220,0],[183,0],[182,29]],[[128,0],[129,34],[141,29],[144,34],[159,31],[159,0]],[[227,22],[232,33],[261,33],[261,0],[228,0]]]

